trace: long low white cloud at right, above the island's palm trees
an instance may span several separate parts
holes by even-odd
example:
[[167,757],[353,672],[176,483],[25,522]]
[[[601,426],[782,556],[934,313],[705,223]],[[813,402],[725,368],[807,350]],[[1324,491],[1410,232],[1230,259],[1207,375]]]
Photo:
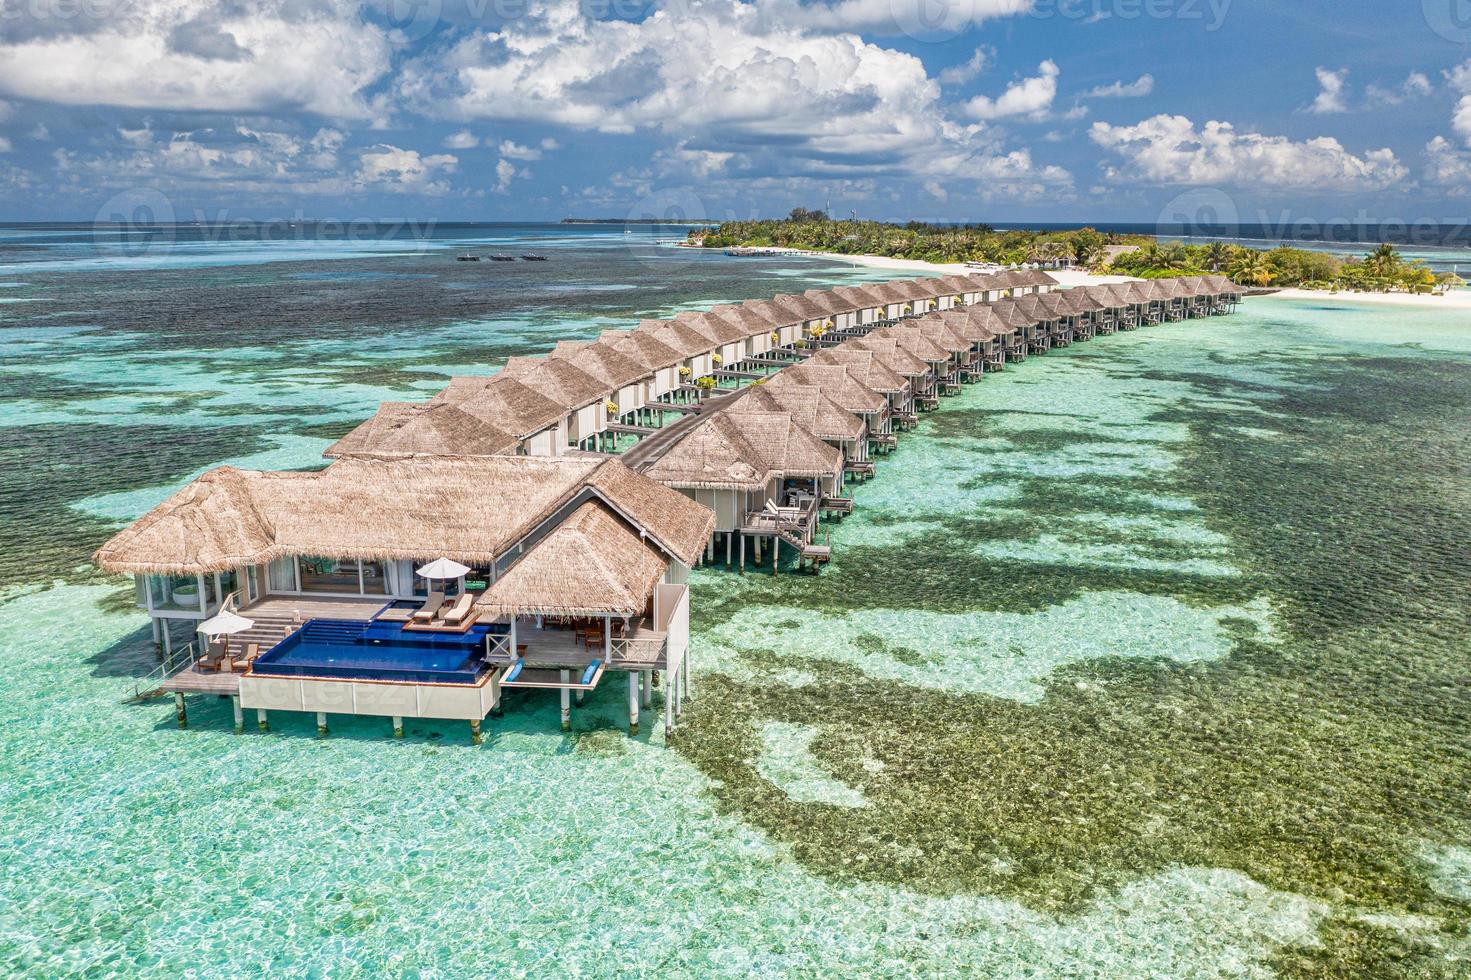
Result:
[[1355,156],[1331,137],[1293,141],[1214,121],[1197,129],[1186,116],[1158,115],[1133,127],[1094,122],[1089,135],[1122,157],[1106,169],[1114,181],[1330,190],[1383,188],[1408,175],[1389,149]]

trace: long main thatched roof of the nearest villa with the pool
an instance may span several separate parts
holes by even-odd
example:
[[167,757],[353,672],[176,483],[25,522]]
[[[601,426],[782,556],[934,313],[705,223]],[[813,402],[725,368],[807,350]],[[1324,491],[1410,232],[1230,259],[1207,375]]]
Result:
[[613,459],[340,459],[318,472],[221,466],[103,544],[110,572],[193,574],[315,555],[487,565],[578,494],[693,564],[713,515]]

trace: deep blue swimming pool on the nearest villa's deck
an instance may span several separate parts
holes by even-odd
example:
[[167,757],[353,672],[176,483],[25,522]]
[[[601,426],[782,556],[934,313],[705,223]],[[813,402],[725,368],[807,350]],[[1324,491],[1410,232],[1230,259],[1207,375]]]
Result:
[[485,637],[502,624],[465,633],[406,633],[399,622],[310,619],[262,653],[252,671],[279,677],[341,677],[425,684],[474,684],[484,664]]

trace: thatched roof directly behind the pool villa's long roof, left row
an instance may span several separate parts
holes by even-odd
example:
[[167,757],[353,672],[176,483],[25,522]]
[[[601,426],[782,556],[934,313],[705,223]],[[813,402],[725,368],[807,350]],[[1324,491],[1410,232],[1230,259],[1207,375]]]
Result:
[[477,418],[455,405],[384,402],[378,413],[322,452],[328,459],[374,456],[499,456],[515,453],[515,433]]

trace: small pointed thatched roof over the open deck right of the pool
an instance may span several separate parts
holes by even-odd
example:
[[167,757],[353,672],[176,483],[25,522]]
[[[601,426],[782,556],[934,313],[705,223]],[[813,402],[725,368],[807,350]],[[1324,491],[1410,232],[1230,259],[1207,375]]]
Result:
[[602,503],[575,509],[500,575],[475,608],[494,617],[643,612],[669,559]]

